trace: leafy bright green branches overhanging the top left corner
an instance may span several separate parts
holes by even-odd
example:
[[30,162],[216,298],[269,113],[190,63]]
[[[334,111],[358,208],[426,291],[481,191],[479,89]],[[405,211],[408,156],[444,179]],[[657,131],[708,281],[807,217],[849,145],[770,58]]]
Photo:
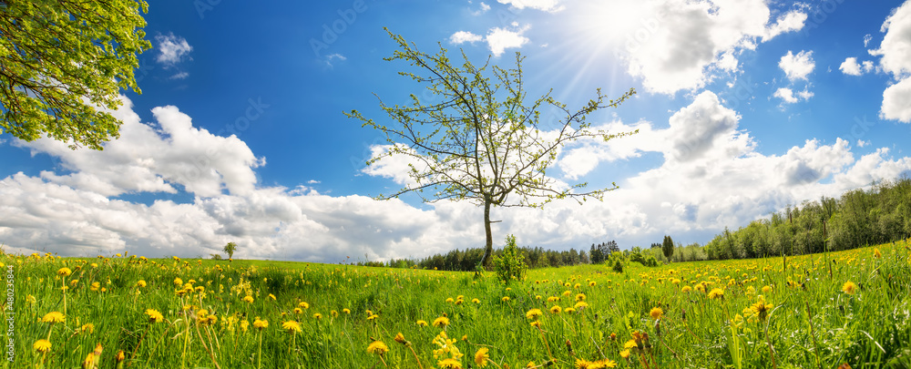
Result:
[[[119,137],[120,88],[136,85],[137,56],[151,48],[144,1],[0,0],[0,133],[43,133],[70,149]],[[141,93],[141,92],[140,92]]]

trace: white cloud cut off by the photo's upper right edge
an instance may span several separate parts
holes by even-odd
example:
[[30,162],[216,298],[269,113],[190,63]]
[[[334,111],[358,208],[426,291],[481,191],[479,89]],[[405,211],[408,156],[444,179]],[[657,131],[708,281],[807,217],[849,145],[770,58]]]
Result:
[[883,42],[873,56],[882,56],[879,66],[891,73],[896,83],[883,91],[883,105],[879,116],[903,123],[911,122],[911,2],[897,7],[885,19],[880,32],[885,32]]

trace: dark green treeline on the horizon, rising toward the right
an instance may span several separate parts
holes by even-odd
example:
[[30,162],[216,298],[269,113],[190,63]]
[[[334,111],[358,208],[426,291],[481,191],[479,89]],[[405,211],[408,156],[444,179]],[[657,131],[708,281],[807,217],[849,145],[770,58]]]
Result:
[[[670,259],[660,243],[650,248],[635,246],[620,251],[616,241],[592,244],[589,251],[544,250],[520,247],[529,268],[572,266],[604,263],[614,252],[622,261],[657,265],[670,261],[705,261],[751,259],[782,255],[802,255],[824,251],[844,251],[904,240],[911,236],[911,179],[903,177],[874,183],[870,190],[847,191],[838,199],[822,197],[804,201],[773,212],[768,219],[753,220],[736,231],[727,228],[705,245],[677,243]],[[498,255],[500,250],[495,250]],[[484,255],[484,248],[453,250],[420,260],[393,259],[360,261],[359,265],[393,268],[437,269],[440,271],[474,271]]]

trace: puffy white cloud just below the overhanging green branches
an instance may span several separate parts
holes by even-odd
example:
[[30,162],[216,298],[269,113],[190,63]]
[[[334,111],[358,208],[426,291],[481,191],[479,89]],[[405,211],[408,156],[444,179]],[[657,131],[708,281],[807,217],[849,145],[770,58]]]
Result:
[[241,139],[194,128],[187,115],[171,106],[152,109],[158,127],[143,124],[131,110],[132,102],[127,97],[120,98],[123,106],[112,112],[123,121],[120,138],[107,142],[102,151],[72,150],[66,142],[51,138],[17,140],[14,145],[30,149],[33,156],[55,156],[64,169],[72,172],[57,175],[46,171],[41,173],[43,179],[104,196],[175,193],[173,184],[206,197],[217,196],[223,190],[238,194],[253,190],[256,176],[252,169],[264,164],[265,159],[253,156]]

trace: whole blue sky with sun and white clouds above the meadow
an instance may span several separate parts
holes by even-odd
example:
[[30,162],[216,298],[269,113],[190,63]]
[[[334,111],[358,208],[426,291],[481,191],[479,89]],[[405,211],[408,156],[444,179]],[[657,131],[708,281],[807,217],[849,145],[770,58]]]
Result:
[[[911,3],[897,1],[341,1],[149,4],[142,94],[122,91],[122,135],[101,152],[0,135],[7,251],[336,262],[483,245],[468,203],[371,197],[408,183],[404,159],[365,167],[386,119],[423,87],[386,62],[437,43],[638,135],[563,149],[548,175],[620,190],[585,206],[497,209],[495,243],[555,250],[671,235],[705,242],[788,204],[911,170]],[[548,111],[544,111],[548,116]],[[366,255],[366,256],[364,256]]]

